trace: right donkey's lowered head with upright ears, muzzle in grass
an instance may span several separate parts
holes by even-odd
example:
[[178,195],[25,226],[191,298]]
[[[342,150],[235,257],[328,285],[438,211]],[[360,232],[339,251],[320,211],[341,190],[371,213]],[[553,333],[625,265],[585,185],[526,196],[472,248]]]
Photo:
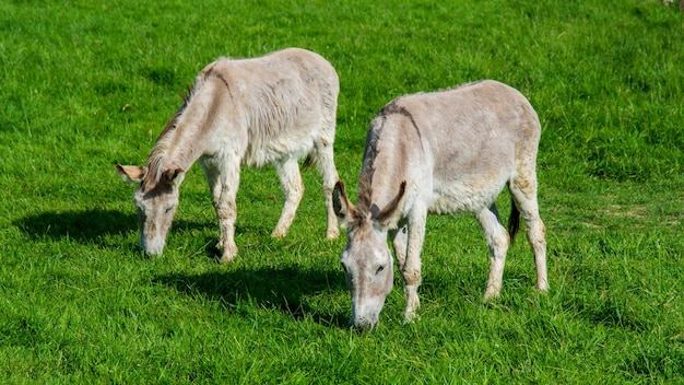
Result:
[[399,220],[400,210],[397,208],[405,185],[403,182],[394,199],[382,209],[370,205],[369,194],[359,198],[358,207],[355,207],[346,197],[342,182],[334,187],[334,211],[347,230],[340,262],[352,295],[350,323],[358,329],[373,328],[378,323],[385,300],[392,290],[393,266],[387,233]]

